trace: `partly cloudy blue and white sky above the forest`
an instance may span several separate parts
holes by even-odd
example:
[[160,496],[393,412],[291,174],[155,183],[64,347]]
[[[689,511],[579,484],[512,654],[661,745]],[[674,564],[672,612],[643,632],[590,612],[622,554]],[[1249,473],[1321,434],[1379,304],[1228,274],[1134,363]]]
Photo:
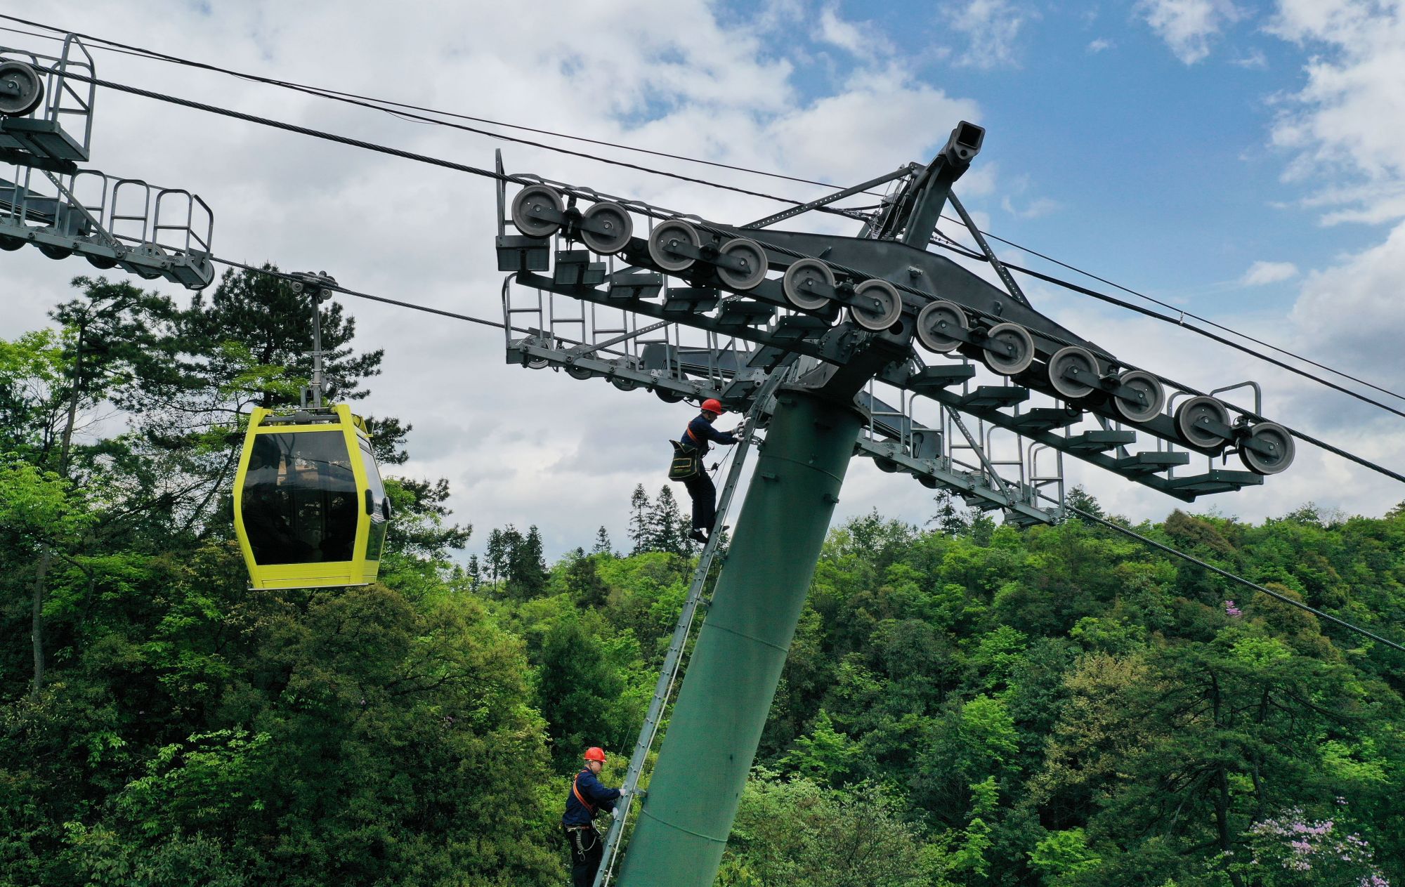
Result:
[[[22,10],[235,70],[842,185],[926,163],[971,121],[986,138],[957,194],[986,232],[1405,392],[1399,0],[48,0]],[[52,46],[7,31],[0,45]],[[103,79],[478,167],[500,147],[510,171],[708,219],[740,223],[783,206],[94,53]],[[784,198],[825,192],[531,138]],[[100,91],[90,166],[200,194],[214,208],[219,257],[325,269],[351,289],[500,316],[489,180],[115,91]],[[813,226],[856,233],[832,219]],[[1114,292],[993,246],[1007,261]],[[0,254],[0,335],[49,323],[46,312],[73,295],[69,279],[89,272],[37,250]],[[1113,354],[1201,389],[1257,380],[1269,417],[1405,470],[1397,415],[1173,326],[1027,278],[1023,286],[1035,309]],[[665,484],[666,441],[691,415],[684,404],[510,366],[489,327],[364,300],[346,307],[355,344],[386,352],[364,410],[414,427],[399,470],[450,480],[455,519],[475,528],[469,550],[507,523],[538,525],[549,557],[589,547],[601,525],[627,546],[629,494]],[[1305,502],[1380,515],[1405,500],[1402,484],[1301,442],[1295,463],[1262,487],[1189,507],[1078,460],[1065,476],[1137,521],[1176,507],[1259,521]],[[875,508],[919,525],[934,509],[912,479],[856,459],[836,522]]]

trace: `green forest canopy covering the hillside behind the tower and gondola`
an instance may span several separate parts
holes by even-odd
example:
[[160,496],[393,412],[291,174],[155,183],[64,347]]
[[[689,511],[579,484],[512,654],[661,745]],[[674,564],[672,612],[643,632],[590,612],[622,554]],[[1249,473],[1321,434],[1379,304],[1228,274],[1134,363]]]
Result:
[[[251,591],[240,417],[295,400],[306,312],[74,285],[0,341],[0,887],[563,883],[566,778],[600,744],[618,780],[691,575],[672,491],[628,553],[507,526],[458,566],[447,481],[392,477],[379,584]],[[412,427],[374,427],[393,474]],[[830,533],[719,884],[1405,883],[1405,657],[1106,528],[933,511]],[[1137,529],[1405,637],[1402,508]]]

